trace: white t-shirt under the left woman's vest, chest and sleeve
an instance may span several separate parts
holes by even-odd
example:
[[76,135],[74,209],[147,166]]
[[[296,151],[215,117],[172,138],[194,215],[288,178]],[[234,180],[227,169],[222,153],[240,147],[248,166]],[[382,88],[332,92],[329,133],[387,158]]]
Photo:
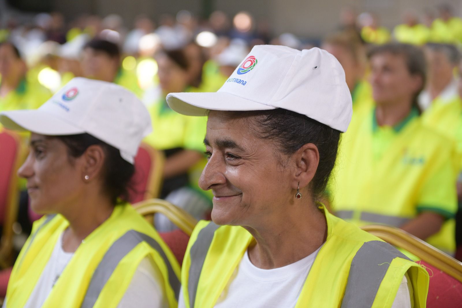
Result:
[[[67,253],[62,249],[61,234],[24,308],[42,307],[53,285],[72,257],[73,253]],[[136,269],[132,281],[117,308],[168,307],[167,298],[164,296],[163,281],[162,274],[154,261],[149,257],[144,258]],[[3,308],[7,307],[7,303],[8,299],[6,298]]]

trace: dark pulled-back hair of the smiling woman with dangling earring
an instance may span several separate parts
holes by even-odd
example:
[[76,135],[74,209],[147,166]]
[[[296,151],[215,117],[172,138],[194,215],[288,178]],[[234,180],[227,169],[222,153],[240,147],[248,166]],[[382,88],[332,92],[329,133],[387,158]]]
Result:
[[[340,131],[294,111],[278,108],[263,111],[231,112],[232,118],[253,116],[250,127],[261,139],[272,140],[281,154],[291,155],[303,145],[312,143],[319,151],[319,164],[310,182],[315,200],[326,190],[329,176],[334,169],[340,142]],[[284,161],[280,159],[280,163]]]

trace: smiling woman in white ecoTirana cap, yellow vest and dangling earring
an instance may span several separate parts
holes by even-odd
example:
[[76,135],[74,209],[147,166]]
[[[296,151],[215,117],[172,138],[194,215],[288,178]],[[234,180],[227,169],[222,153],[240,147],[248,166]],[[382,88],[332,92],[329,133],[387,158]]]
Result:
[[208,113],[199,184],[213,192],[179,307],[425,307],[423,268],[316,202],[352,115],[333,55],[256,45],[218,92],[167,102]]

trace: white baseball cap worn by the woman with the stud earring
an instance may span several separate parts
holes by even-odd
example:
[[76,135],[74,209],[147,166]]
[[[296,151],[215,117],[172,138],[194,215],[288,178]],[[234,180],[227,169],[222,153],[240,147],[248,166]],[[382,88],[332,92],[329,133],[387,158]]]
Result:
[[141,140],[152,132],[143,103],[113,83],[74,78],[40,108],[0,113],[4,127],[49,136],[89,133],[134,163]]

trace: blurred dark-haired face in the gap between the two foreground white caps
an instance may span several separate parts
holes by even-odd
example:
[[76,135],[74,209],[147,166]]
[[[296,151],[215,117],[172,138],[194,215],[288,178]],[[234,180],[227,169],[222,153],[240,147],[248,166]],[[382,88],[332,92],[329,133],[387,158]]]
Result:
[[159,84],[164,94],[182,92],[188,86],[188,71],[165,54],[157,57]]

